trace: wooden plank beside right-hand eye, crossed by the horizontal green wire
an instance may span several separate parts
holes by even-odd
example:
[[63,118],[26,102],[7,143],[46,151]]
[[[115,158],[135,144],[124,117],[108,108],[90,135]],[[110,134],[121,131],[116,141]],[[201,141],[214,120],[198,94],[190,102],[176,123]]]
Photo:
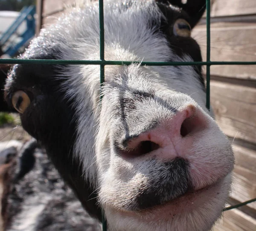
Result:
[[[197,26],[192,37],[199,43],[205,61],[206,26]],[[256,23],[212,23],[211,61],[256,61],[255,37]],[[211,66],[211,74],[256,80],[256,66]]]

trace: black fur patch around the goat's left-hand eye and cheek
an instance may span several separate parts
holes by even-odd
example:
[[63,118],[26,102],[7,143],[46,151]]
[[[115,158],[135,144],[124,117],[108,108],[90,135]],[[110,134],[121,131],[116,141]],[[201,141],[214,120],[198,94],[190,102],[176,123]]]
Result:
[[[52,59],[56,50],[51,55],[49,52],[47,55],[29,58]],[[53,65],[14,66],[6,82],[6,100],[11,105],[12,94],[20,89],[28,94],[31,104],[20,116],[23,128],[45,147],[52,163],[74,190],[84,208],[100,220],[102,215],[96,205],[95,189],[82,177],[79,160],[72,156],[76,117],[72,102],[65,100],[65,91],[59,89],[65,77],[57,78],[58,72],[59,67]]]

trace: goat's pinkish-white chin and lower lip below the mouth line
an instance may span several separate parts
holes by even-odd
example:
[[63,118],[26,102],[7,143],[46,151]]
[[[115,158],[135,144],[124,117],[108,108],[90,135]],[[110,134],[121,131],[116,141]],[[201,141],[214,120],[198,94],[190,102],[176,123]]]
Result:
[[221,217],[231,174],[209,187],[140,212],[105,208],[111,231],[209,231]]

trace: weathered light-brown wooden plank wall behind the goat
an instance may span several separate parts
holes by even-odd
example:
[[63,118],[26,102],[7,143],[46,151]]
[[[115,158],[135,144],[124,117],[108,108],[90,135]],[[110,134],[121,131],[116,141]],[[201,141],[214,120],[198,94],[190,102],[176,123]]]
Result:
[[[43,24],[72,0],[42,0]],[[256,0],[211,1],[211,60],[256,61]],[[206,60],[206,19],[194,29]],[[230,205],[256,197],[256,66],[211,66],[211,104],[236,156]],[[224,213],[215,231],[255,231],[256,202]]]

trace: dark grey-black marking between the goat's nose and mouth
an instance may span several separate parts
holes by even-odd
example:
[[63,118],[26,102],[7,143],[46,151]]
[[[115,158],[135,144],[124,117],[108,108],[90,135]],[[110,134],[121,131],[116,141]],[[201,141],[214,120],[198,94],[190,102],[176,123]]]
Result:
[[[162,168],[155,169],[154,175],[159,174],[157,179],[149,181],[137,188],[135,203],[131,203],[133,211],[140,211],[161,205],[189,191],[189,163],[183,158],[177,157],[170,162],[164,162]],[[163,174],[163,171],[165,174]]]

